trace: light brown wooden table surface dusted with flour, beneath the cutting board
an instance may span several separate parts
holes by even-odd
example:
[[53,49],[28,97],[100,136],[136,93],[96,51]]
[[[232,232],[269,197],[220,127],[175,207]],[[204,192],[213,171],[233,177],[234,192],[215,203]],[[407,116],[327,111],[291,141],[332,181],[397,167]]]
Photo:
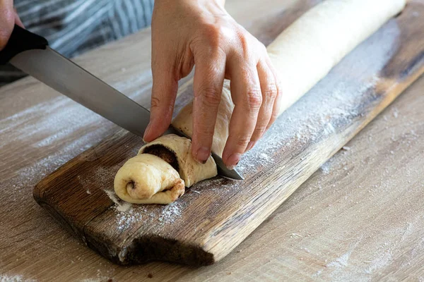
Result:
[[[296,14],[277,2],[228,11],[260,38],[265,18]],[[150,51],[143,30],[76,62],[148,105]],[[33,186],[117,127],[32,78],[2,87],[0,281],[424,281],[423,92],[420,78],[228,257],[192,268],[117,266],[62,229]]]

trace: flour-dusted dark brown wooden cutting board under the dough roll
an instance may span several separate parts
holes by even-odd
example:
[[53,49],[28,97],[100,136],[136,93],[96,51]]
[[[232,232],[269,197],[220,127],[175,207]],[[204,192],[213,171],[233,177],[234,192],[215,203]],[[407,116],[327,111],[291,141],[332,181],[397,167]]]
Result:
[[[423,17],[424,0],[408,3],[285,111],[240,161],[245,180],[205,180],[167,206],[122,203],[112,192],[114,174],[143,142],[120,130],[38,183],[35,200],[113,262],[213,264],[424,72]],[[273,28],[259,39],[269,43],[294,18],[270,19]],[[186,88],[177,109],[192,95]]]

